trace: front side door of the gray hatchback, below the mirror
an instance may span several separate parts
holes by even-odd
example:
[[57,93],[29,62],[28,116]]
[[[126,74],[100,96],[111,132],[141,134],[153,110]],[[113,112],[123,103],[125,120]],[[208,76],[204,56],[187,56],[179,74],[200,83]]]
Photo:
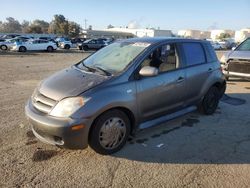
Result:
[[[181,69],[177,44],[165,44],[160,47],[159,74],[142,77],[136,81],[137,104],[142,121],[155,119],[182,107],[186,97],[186,75]],[[154,51],[141,63],[152,66]],[[157,61],[158,62],[158,61]]]

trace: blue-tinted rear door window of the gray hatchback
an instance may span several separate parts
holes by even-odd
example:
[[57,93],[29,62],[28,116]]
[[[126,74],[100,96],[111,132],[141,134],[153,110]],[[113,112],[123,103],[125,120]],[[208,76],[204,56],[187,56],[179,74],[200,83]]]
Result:
[[183,43],[183,50],[187,66],[198,65],[206,62],[204,50],[200,43]]

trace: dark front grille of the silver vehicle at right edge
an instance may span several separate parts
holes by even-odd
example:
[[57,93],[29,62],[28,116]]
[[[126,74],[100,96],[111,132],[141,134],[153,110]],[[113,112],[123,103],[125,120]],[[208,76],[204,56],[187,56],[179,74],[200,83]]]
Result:
[[244,59],[231,59],[228,62],[229,72],[239,72],[250,74],[250,60]]

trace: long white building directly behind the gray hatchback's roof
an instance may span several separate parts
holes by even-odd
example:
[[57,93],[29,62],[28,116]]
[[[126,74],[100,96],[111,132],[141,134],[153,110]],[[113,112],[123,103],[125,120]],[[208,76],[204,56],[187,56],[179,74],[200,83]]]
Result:
[[137,37],[171,37],[171,30],[158,29],[130,29],[130,28],[110,28],[105,31],[131,33]]

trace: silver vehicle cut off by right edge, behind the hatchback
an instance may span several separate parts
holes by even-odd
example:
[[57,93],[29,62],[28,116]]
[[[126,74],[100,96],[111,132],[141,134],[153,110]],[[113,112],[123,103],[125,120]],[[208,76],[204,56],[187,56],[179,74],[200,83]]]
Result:
[[224,54],[220,61],[227,79],[230,77],[250,79],[250,38]]

